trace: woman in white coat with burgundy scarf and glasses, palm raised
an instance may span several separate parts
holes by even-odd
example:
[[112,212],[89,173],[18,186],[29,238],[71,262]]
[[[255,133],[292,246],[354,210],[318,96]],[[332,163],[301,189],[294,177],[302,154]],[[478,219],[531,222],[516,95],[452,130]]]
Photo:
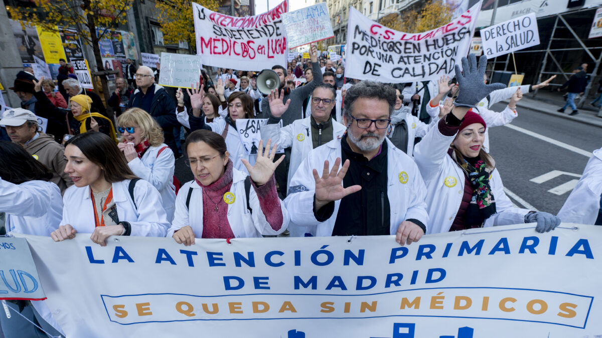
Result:
[[288,213],[278,198],[274,178],[284,156],[273,162],[276,144],[270,152],[268,142],[264,152],[260,141],[253,167],[243,159],[250,176],[234,168],[225,140],[212,131],[192,132],[184,149],[194,180],[185,183],[176,198],[176,215],[168,237],[191,245],[196,237],[274,236],[287,229]]

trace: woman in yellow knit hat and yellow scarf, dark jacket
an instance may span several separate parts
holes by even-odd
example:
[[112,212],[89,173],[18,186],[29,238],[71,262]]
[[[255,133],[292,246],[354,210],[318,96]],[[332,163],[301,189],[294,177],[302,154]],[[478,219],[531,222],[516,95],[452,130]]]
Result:
[[69,119],[69,126],[73,134],[84,134],[87,131],[97,131],[108,135],[117,143],[117,135],[113,122],[98,112],[92,112],[92,99],[90,96],[78,94],[73,96],[70,101],[72,118]]

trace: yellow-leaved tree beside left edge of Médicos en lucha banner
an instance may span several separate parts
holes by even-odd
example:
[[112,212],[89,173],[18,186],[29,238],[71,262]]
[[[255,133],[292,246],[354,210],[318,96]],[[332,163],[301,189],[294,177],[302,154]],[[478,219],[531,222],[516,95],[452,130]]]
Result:
[[[219,4],[216,0],[196,0],[197,4],[217,11]],[[190,0],[163,0],[157,1],[155,7],[159,10],[158,20],[163,31],[163,40],[166,43],[187,41],[189,46],[194,46],[194,21],[192,1]]]

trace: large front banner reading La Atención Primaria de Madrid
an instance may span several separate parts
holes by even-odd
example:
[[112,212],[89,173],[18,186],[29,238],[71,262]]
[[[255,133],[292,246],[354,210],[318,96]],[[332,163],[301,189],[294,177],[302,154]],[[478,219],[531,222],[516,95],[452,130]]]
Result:
[[189,247],[111,236],[101,247],[83,233],[60,243],[14,235],[27,239],[67,337],[602,333],[602,232],[594,226],[471,229],[404,247],[394,236],[196,239]]

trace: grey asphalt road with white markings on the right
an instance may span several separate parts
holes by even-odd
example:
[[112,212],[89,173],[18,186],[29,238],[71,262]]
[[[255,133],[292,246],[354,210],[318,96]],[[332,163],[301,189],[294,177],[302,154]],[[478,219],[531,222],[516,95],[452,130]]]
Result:
[[[498,103],[493,109],[501,111],[504,106]],[[511,126],[489,129],[489,147],[510,199],[519,207],[556,214],[583,173],[589,159],[584,153],[602,147],[601,133],[599,127],[520,108]],[[577,149],[568,150],[558,143]],[[536,177],[541,178],[533,182]]]

